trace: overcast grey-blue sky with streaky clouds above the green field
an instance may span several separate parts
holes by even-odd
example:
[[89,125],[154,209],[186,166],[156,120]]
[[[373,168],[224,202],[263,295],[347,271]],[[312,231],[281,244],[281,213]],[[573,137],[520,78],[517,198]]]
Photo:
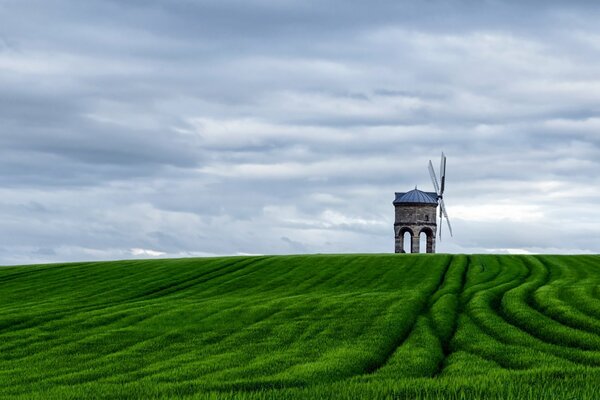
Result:
[[595,3],[0,0],[0,264],[599,253]]

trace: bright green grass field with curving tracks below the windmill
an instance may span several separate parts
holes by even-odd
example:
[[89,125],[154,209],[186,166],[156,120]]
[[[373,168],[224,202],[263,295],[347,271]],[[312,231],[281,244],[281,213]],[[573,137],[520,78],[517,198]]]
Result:
[[600,256],[0,268],[0,398],[600,399]]

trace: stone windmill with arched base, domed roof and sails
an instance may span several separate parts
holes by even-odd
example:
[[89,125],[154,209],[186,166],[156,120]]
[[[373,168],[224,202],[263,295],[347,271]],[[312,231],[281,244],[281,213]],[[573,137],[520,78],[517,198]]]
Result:
[[[410,192],[396,192],[394,199],[395,222],[395,252],[396,253],[419,253],[419,238],[421,234],[427,237],[426,252],[435,253],[435,239],[438,232],[436,223],[436,211],[440,207],[440,229],[439,238],[442,238],[442,217],[446,218],[450,236],[452,236],[452,226],[446,213],[443,194],[446,183],[446,156],[442,153],[440,163],[441,186],[438,184],[433,164],[429,161],[429,174],[435,192],[423,192],[416,187]],[[404,248],[404,236],[410,235],[410,249]]]

